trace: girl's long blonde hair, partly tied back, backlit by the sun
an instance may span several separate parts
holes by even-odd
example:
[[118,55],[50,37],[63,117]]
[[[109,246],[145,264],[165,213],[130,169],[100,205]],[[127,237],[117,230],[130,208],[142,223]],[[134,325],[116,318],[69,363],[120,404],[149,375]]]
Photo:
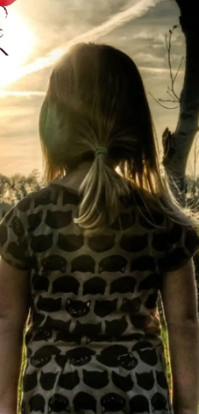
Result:
[[[92,163],[75,219],[88,234],[116,220],[120,196],[130,195],[129,182],[146,190],[173,221],[196,224],[174,198],[163,167],[160,172],[141,76],[118,49],[80,43],[57,63],[40,112],[40,140],[48,181]],[[108,154],[95,157],[98,147]]]

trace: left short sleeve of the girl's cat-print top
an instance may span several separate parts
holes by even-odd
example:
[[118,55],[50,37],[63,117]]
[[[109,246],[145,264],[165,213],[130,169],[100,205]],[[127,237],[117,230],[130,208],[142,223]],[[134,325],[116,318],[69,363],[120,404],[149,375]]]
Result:
[[11,266],[29,269],[27,238],[28,199],[19,201],[0,222],[0,256]]

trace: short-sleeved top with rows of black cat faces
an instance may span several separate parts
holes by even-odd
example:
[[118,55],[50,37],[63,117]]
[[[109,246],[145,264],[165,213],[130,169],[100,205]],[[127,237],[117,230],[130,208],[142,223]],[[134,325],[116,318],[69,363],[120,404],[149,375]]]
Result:
[[60,180],[0,224],[0,255],[30,278],[21,413],[173,414],[157,300],[199,238],[135,190],[88,238],[73,221],[79,203]]

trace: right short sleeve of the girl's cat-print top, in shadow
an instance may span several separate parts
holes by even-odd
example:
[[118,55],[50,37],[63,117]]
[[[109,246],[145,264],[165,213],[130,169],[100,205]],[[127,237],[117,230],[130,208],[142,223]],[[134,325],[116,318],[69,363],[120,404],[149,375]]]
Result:
[[161,272],[180,269],[199,249],[199,236],[193,227],[169,220],[165,234],[166,251],[159,259]]

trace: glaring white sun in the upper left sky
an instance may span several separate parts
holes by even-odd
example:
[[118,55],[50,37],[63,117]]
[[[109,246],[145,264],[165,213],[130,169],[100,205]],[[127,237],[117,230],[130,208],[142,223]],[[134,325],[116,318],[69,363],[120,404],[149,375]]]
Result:
[[4,10],[0,7],[0,28],[3,29],[0,47],[8,53],[5,56],[0,51],[0,88],[9,83],[13,73],[18,72],[35,47],[34,32],[25,19],[12,6],[7,11],[5,19]]

